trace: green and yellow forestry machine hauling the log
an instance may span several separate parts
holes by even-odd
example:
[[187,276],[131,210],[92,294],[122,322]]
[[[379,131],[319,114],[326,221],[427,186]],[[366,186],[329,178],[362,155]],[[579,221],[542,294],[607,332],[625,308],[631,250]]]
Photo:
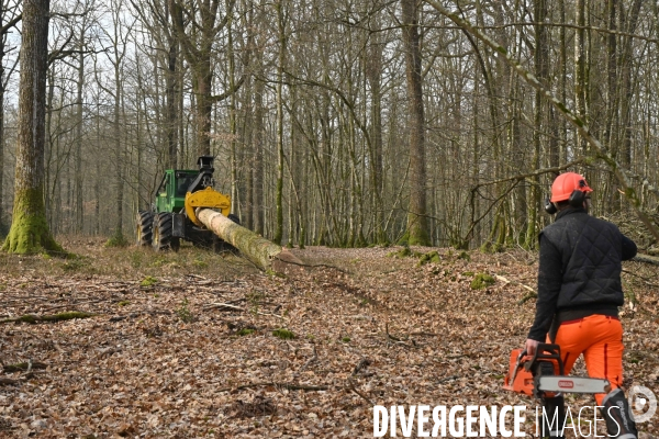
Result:
[[238,217],[231,213],[231,198],[213,189],[213,157],[201,156],[197,164],[199,170],[165,171],[152,211],[137,213],[138,246],[177,251],[185,239],[214,250],[228,247],[199,221],[196,212],[199,207],[212,209],[239,224]]

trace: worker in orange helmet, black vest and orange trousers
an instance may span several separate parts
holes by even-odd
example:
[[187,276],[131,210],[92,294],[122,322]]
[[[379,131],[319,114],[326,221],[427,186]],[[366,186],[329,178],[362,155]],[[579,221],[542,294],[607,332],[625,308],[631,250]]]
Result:
[[[606,221],[589,215],[585,179],[561,173],[551,184],[545,209],[556,221],[539,235],[538,299],[526,351],[539,342],[560,346],[566,374],[583,353],[588,374],[611,383],[595,399],[611,437],[637,438],[623,384],[623,327],[618,306],[624,303],[622,261],[636,256],[636,244]],[[559,394],[546,398],[547,412],[557,410],[560,425],[550,437],[563,437],[565,402]],[[551,414],[551,416],[554,416]]]

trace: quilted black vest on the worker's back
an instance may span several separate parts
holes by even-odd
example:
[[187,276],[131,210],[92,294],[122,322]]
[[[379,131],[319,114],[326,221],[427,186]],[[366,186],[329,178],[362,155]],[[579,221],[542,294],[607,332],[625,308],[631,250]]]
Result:
[[623,305],[623,235],[614,224],[569,209],[541,233],[562,258],[558,311]]

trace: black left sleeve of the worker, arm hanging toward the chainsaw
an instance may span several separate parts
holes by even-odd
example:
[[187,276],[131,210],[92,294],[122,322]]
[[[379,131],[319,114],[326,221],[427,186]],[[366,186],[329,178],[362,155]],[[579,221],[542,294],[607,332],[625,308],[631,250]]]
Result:
[[562,283],[562,260],[560,251],[540,234],[540,266],[538,268],[538,300],[536,316],[528,338],[545,342],[547,331],[554,320],[558,294]]

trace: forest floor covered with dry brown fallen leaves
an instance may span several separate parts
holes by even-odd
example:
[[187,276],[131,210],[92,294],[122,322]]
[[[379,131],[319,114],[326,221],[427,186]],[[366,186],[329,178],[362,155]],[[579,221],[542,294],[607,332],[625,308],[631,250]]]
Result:
[[[413,248],[438,251],[420,264],[395,247],[310,247],[293,252],[316,267],[268,275],[193,247],[62,241],[80,257],[0,255],[0,320],[94,314],[0,324],[2,438],[371,438],[375,404],[526,405],[535,431],[536,402],[501,385],[533,320],[520,301],[537,254]],[[625,385],[659,394],[657,268],[624,269]],[[473,290],[481,273],[494,282]]]

